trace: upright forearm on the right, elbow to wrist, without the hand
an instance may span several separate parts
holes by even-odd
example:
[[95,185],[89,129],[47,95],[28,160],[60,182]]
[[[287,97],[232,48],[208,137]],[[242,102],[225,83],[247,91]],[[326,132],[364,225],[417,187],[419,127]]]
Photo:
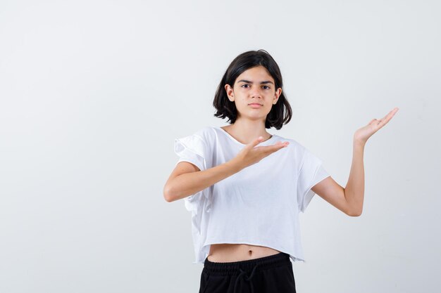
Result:
[[344,197],[349,204],[349,210],[351,214],[357,216],[363,211],[364,201],[364,145],[365,143],[354,140],[351,171],[344,188]]

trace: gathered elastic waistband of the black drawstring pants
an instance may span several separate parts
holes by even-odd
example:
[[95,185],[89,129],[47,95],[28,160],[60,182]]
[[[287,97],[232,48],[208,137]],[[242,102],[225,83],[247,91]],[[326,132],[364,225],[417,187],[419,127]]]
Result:
[[263,256],[259,259],[248,259],[246,261],[232,261],[217,263],[209,261],[208,256],[204,261],[204,271],[212,275],[237,275],[241,271],[261,271],[278,266],[291,264],[290,254],[279,252],[270,256]]

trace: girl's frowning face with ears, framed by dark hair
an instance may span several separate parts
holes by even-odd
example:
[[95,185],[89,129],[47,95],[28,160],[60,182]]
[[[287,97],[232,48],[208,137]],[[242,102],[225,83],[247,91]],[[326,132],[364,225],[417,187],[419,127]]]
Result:
[[[234,101],[237,118],[263,119],[277,103],[282,89],[275,89],[274,79],[263,66],[249,68],[235,80],[233,88],[225,84],[228,99]],[[258,105],[252,105],[252,104]]]

